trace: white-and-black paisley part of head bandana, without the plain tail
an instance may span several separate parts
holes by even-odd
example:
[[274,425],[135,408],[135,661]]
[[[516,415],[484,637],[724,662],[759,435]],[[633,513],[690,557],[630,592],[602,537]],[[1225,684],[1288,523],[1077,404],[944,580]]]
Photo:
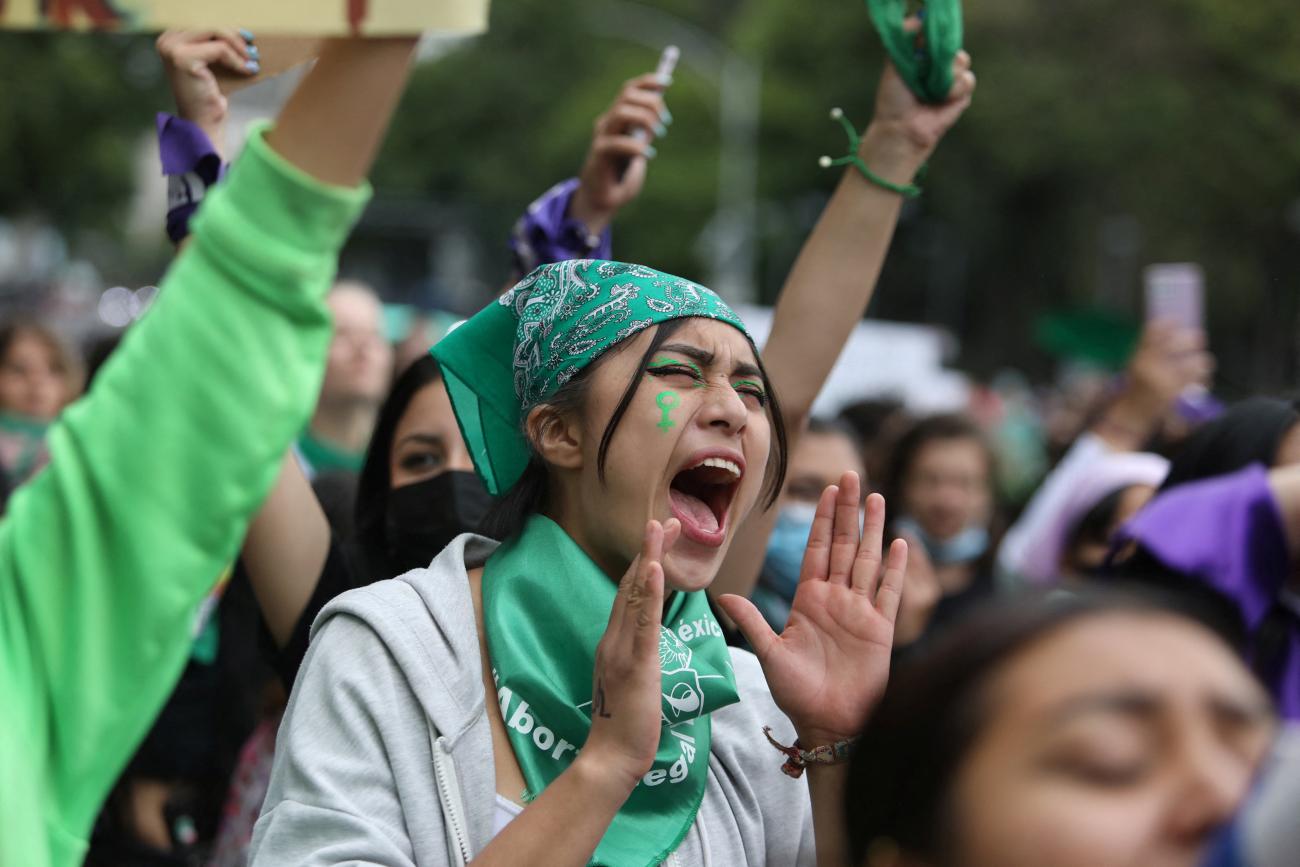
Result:
[[745,331],[712,290],[645,265],[599,259],[542,265],[499,304],[519,321],[515,394],[525,412],[606,350],[651,325],[702,316]]

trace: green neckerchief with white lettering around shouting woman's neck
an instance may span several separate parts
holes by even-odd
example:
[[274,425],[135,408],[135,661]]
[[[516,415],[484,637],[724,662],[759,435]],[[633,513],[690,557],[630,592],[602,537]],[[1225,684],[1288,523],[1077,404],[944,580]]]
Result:
[[[533,515],[489,558],[482,588],[500,715],[536,797],[573,762],[592,729],[595,646],[618,585],[558,524]],[[722,627],[703,591],[675,593],[660,630],[659,751],[592,864],[650,867],[681,844],[705,797],[708,715],[740,701]]]

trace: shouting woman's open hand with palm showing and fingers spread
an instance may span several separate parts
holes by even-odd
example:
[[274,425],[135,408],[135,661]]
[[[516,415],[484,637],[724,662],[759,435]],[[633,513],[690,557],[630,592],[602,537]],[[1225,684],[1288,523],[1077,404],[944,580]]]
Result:
[[859,497],[857,473],[822,494],[780,636],[749,599],[719,599],[754,647],[772,698],[805,749],[857,734],[889,680],[907,543],[896,541],[883,560],[884,498],[867,498],[859,530]]

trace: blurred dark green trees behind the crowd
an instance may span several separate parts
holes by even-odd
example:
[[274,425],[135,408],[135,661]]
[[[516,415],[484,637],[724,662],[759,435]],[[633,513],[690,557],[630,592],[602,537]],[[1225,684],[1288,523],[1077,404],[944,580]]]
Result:
[[[616,252],[710,278],[719,170],[736,152],[723,151],[718,77],[690,45],[703,47],[760,75],[753,295],[770,302],[836,179],[816,166],[844,147],[827,110],[870,118],[881,49],[863,5],[502,0],[491,18],[485,36],[416,71],[376,169],[376,216],[358,247],[402,263],[394,296],[486,300],[507,276],[514,218],[577,170],[594,117],[624,79],[654,68],[658,34],[673,32],[688,43],[668,97],[676,122],[620,217]],[[975,373],[1015,365],[1041,377],[1053,363],[1035,342],[1044,315],[1136,322],[1141,268],[1193,260],[1206,272],[1223,390],[1294,386],[1294,5],[982,0],[966,21],[975,105],[905,209],[871,313],[950,329],[958,364]],[[75,235],[122,213],[135,136],[166,105],[140,45],[3,36],[0,214],[43,208]],[[421,214],[458,226],[473,286],[430,289],[437,263],[398,251],[385,226]]]

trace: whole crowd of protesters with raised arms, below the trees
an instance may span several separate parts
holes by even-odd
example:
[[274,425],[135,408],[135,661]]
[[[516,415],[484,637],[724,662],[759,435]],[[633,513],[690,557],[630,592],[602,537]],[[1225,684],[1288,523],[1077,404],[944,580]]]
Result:
[[614,261],[644,75],[408,361],[335,268],[411,48],[332,43],[228,173],[255,40],[165,34],[157,305],[84,395],[0,328],[0,862],[1294,863],[1296,404],[1188,425],[1148,322],[1024,497],[987,412],[812,415],[965,52],[887,66],[762,354]]

